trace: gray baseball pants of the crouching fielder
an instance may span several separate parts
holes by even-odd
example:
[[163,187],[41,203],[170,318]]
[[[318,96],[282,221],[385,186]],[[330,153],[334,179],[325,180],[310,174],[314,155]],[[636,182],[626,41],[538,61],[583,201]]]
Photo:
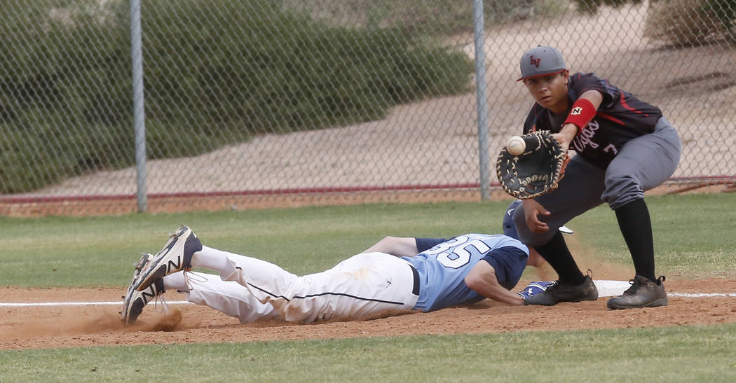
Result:
[[644,198],[645,190],[662,185],[672,176],[680,160],[680,151],[676,129],[662,117],[654,132],[624,144],[606,169],[581,156],[573,157],[559,187],[534,198],[551,212],[551,215],[539,217],[551,229],[539,234],[531,232],[526,226],[524,210],[517,209],[514,223],[519,240],[528,246],[544,245],[556,234],[556,228],[599,204],[606,202],[616,210]]

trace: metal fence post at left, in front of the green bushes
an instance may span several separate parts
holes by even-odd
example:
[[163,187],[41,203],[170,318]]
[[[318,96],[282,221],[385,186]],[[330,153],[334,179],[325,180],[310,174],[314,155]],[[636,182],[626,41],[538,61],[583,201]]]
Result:
[[146,114],[144,110],[143,38],[141,34],[141,0],[130,0],[135,174],[138,185],[138,212],[145,212],[148,210],[148,200],[146,196]]

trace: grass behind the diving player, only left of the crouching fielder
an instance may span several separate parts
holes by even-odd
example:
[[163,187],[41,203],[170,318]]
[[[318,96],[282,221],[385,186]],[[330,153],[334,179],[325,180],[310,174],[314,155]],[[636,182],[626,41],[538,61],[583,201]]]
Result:
[[288,210],[0,218],[0,281],[22,287],[121,286],[142,251],[157,252],[181,224],[202,243],[275,262],[294,273],[322,271],[385,235],[500,232],[506,204],[364,205]]

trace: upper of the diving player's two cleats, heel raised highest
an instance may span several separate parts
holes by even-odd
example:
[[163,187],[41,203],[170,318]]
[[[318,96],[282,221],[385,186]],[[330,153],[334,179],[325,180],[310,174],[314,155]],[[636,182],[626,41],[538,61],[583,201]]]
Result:
[[157,279],[177,271],[191,269],[191,257],[201,250],[202,243],[199,242],[197,235],[194,235],[188,226],[182,226],[171,235],[169,241],[151,259],[144,271],[141,271],[141,279],[135,290],[143,291]]

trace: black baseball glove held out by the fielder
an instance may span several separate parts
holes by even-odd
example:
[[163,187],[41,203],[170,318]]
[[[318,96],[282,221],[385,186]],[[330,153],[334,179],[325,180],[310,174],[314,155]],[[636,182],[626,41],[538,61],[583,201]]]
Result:
[[526,150],[514,156],[506,147],[496,161],[496,174],[503,190],[514,198],[541,196],[557,188],[565,174],[567,153],[547,130],[521,136]]

